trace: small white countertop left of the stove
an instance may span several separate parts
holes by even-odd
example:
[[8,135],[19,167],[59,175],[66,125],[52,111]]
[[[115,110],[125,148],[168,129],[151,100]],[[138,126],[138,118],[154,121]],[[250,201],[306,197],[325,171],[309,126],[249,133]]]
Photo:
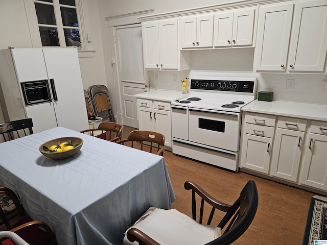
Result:
[[159,100],[171,102],[184,97],[187,94],[183,94],[182,91],[171,91],[171,90],[160,90],[160,89],[150,89],[148,92],[134,94],[135,97],[139,99],[148,100]]

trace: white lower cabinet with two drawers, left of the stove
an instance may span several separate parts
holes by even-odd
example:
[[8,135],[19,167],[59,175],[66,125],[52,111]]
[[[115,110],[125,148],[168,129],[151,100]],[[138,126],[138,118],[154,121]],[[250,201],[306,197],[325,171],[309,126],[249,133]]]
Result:
[[165,135],[165,145],[172,147],[170,102],[137,99],[138,129]]

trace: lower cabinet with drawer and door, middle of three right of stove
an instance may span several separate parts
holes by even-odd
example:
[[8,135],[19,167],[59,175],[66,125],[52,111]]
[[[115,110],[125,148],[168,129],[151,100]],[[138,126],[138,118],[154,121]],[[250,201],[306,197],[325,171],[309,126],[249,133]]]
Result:
[[278,117],[271,176],[297,181],[307,120]]

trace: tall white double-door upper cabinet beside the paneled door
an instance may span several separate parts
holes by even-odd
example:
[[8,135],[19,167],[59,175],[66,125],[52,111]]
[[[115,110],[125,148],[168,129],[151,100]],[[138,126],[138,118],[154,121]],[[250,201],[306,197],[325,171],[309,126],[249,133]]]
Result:
[[143,63],[146,70],[190,69],[191,54],[180,51],[179,18],[142,22]]

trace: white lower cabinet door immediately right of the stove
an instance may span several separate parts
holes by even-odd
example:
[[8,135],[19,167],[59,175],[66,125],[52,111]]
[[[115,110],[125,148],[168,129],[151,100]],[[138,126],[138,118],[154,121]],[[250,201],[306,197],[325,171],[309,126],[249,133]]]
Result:
[[272,139],[243,134],[241,167],[268,174]]

